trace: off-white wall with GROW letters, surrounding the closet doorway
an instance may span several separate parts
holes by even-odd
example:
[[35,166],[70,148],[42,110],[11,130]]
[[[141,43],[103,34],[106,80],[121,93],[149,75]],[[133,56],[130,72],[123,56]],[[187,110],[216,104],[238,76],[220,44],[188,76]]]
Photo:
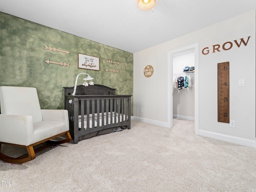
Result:
[[[168,52],[199,43],[199,134],[256,147],[255,143],[255,36],[256,11],[225,20],[163,44],[134,53],[134,118],[167,126],[168,116]],[[234,40],[247,41],[236,46]],[[157,37],[156,37],[157,38]],[[222,50],[225,42],[233,47]],[[213,53],[213,45],[220,44],[220,52]],[[226,44],[228,48],[229,44]],[[202,50],[209,47],[207,55]],[[230,62],[230,120],[236,128],[217,121],[217,63]],[[154,67],[154,74],[146,78],[145,66]],[[238,86],[245,79],[246,86]],[[141,113],[143,109],[143,113]]]

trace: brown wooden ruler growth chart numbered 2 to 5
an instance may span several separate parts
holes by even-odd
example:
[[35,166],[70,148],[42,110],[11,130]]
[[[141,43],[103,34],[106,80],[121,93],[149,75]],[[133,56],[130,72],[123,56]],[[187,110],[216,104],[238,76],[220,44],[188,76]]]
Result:
[[218,122],[229,123],[229,62],[218,63]]

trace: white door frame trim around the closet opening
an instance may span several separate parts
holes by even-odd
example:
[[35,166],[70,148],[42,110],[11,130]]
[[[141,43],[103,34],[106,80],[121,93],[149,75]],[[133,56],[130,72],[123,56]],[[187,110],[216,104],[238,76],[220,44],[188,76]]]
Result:
[[168,52],[168,127],[172,128],[172,118],[173,118],[173,86],[172,86],[172,66],[173,66],[173,56],[176,54],[181,54],[182,52],[187,52],[194,50],[195,55],[195,134],[199,132],[199,44],[192,44],[185,46],[176,50]]

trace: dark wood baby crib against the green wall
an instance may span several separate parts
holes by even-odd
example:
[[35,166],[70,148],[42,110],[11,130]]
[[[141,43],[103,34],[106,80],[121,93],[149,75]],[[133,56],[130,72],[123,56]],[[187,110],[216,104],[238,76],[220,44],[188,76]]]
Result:
[[131,96],[116,95],[104,85],[64,87],[65,109],[74,144],[96,135],[131,128]]

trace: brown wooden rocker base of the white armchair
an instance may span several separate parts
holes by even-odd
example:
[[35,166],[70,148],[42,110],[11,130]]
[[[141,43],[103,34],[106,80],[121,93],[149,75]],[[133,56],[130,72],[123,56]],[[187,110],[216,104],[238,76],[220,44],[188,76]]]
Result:
[[[65,134],[66,135],[66,139],[65,140],[60,140],[60,141],[52,141],[51,139],[53,138],[56,138],[58,136],[61,136]],[[36,158],[36,154],[35,152],[38,152],[44,148],[47,148],[49,146],[52,146],[52,145],[57,145],[57,144],[62,144],[62,143],[66,143],[66,142],[70,142],[71,141],[71,135],[69,133],[69,131],[66,131],[64,133],[61,133],[61,134],[58,134],[56,136],[53,136],[51,138],[48,138],[48,139],[45,139],[45,140],[42,140],[40,142],[37,142],[37,143],[34,143],[32,145],[29,145],[29,146],[24,146],[24,145],[17,145],[17,144],[11,144],[11,143],[4,143],[4,142],[0,142],[0,159],[5,161],[5,162],[8,162],[8,163],[24,163],[24,162],[28,162],[28,161],[31,161],[33,160],[34,158]],[[38,145],[38,144],[41,144],[41,143],[47,143],[45,146],[42,146],[36,150],[34,150],[34,146]],[[12,146],[18,146],[18,147],[23,147],[23,148],[26,148],[28,153],[27,154],[24,154],[22,156],[19,156],[17,158],[13,158],[13,157],[10,157],[10,156],[7,156],[5,154],[3,154],[1,152],[1,146],[2,144],[5,144],[5,145],[12,145]]]

